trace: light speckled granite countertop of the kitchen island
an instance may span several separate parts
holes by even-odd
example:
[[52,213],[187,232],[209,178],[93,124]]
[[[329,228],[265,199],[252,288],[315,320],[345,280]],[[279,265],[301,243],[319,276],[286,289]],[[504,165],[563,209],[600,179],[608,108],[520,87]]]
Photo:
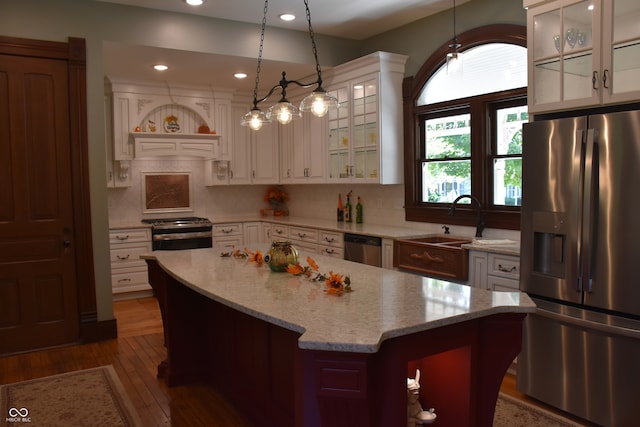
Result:
[[[252,250],[265,253],[268,245]],[[375,353],[385,340],[497,313],[532,313],[521,292],[492,292],[466,285],[312,255],[320,271],[351,277],[353,292],[324,292],[322,282],[274,273],[220,250],[155,251],[171,276],[215,301],[302,334],[303,349]],[[300,253],[306,265],[307,254]]]

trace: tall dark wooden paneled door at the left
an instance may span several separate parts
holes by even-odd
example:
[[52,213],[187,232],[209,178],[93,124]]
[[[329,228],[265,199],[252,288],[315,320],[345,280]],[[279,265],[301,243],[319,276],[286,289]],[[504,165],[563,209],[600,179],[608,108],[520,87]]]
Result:
[[79,337],[68,73],[0,55],[0,354]]

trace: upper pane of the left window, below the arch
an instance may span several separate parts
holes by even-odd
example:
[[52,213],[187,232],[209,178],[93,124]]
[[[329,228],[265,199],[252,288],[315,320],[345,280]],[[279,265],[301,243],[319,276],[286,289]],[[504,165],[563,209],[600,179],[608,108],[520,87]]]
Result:
[[427,159],[471,157],[471,115],[429,119],[425,122]]

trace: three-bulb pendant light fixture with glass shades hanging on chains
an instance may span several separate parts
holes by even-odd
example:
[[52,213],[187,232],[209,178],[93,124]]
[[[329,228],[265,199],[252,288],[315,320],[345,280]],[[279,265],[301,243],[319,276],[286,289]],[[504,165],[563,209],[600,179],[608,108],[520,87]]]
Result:
[[[256,85],[253,90],[253,107],[245,114],[240,120],[242,126],[249,126],[253,130],[259,130],[263,124],[271,123],[275,118],[282,124],[287,124],[293,119],[300,117],[301,112],[311,112],[317,117],[324,116],[329,109],[337,109],[339,107],[338,100],[327,93],[322,87],[322,70],[320,69],[320,62],[318,61],[318,49],[316,46],[315,35],[313,33],[313,27],[311,26],[311,12],[309,11],[309,2],[304,0],[304,5],[307,15],[307,23],[309,24],[309,37],[311,38],[311,49],[313,51],[313,57],[316,62],[316,74],[317,78],[312,83],[301,83],[296,80],[287,80],[287,73],[282,72],[282,79],[269,90],[266,96],[258,99],[258,86],[260,84],[260,71],[262,63],[262,49],[264,46],[264,31],[267,25],[267,9],[269,7],[269,0],[264,2],[264,15],[262,18],[262,32],[260,33],[260,47],[258,50],[258,66],[256,70]],[[297,86],[308,88],[315,86],[315,89],[305,97],[300,103],[300,108],[293,105],[287,100],[287,87],[290,84],[296,84]],[[273,92],[280,89],[280,100],[270,107],[265,114],[258,104],[269,99]]]

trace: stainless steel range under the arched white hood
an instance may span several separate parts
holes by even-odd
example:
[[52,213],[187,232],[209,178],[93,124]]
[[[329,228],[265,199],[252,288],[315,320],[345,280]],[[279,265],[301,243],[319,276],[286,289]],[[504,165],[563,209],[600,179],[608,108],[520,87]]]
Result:
[[154,251],[210,248],[212,224],[207,218],[143,219],[151,224],[151,247]]

